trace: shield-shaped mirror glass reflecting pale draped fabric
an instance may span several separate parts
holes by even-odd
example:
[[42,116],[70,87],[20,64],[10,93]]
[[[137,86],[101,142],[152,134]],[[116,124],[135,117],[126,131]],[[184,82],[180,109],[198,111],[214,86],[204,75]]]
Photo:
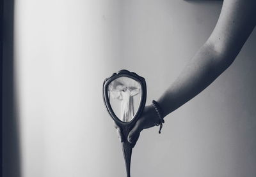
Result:
[[141,85],[126,76],[116,78],[108,85],[108,99],[116,117],[130,122],[140,106]]

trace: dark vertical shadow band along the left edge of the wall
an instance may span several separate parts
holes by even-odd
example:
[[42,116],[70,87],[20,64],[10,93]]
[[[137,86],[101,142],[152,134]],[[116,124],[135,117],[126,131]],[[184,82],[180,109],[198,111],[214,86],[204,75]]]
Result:
[[3,2],[3,120],[2,169],[4,177],[20,175],[19,126],[17,122],[14,65],[13,65],[13,10],[14,0]]

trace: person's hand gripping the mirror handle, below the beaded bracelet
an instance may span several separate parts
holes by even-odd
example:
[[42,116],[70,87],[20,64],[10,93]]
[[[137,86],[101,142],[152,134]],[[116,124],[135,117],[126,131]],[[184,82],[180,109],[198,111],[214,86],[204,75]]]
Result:
[[[154,127],[157,124],[159,124],[159,117],[157,116],[156,110],[152,105],[145,106],[143,112],[141,113],[141,116],[138,118],[134,127],[129,132],[127,140],[129,141],[129,143],[132,144],[132,147],[135,146],[140,136],[140,132],[143,131],[143,129]],[[121,132],[120,127],[118,127],[118,125],[116,125],[115,122],[114,125],[116,128],[118,138],[121,142],[123,142],[124,136]]]

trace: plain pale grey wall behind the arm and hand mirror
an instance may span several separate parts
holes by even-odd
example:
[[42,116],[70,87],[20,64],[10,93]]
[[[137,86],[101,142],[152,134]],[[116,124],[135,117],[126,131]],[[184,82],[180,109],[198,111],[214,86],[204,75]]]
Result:
[[[209,37],[221,4],[16,1],[22,176],[125,176],[121,145],[102,101],[103,80],[120,69],[140,74],[150,104]],[[255,176],[255,45],[253,31],[225,73],[165,118],[162,134],[159,127],[141,133],[132,176]]]

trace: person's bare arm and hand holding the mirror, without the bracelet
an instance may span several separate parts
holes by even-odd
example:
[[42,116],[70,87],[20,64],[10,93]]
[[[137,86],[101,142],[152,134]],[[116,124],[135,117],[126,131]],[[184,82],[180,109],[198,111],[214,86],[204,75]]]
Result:
[[[202,92],[232,64],[255,25],[255,0],[224,0],[211,36],[157,100],[164,117]],[[135,144],[143,129],[158,123],[153,106],[146,106],[129,133],[128,141]],[[120,128],[116,125],[115,128],[120,141],[123,141]]]

